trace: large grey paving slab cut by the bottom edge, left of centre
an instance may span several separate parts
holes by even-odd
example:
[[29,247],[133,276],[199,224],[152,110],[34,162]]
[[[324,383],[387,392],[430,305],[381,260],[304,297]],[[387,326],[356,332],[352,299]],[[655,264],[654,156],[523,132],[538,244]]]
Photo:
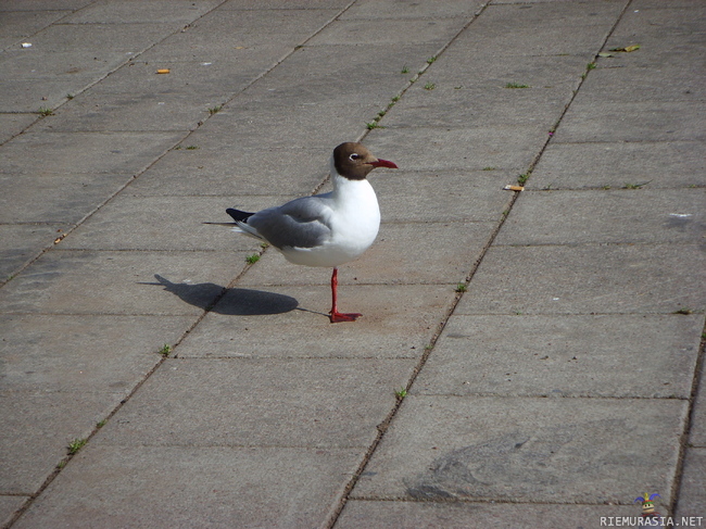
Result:
[[351,450],[96,446],[14,527],[319,527],[360,457]]

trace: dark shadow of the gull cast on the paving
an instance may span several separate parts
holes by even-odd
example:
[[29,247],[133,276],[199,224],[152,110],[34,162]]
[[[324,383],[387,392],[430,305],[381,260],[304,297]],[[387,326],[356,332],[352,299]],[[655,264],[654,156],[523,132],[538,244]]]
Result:
[[154,274],[157,282],[141,282],[155,285],[179,297],[186,303],[204,311],[215,312],[227,316],[257,316],[266,314],[282,314],[295,310],[299,302],[285,294],[265,292],[243,288],[226,288],[213,282],[172,282]]

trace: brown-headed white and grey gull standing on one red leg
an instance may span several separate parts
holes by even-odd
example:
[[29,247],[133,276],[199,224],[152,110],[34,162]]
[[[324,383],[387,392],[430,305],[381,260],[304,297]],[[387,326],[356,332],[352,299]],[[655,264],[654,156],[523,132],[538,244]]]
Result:
[[235,221],[234,231],[267,242],[290,263],[333,268],[331,323],[355,322],[361,316],[338,311],[338,267],[360,257],[378,235],[380,209],[366,179],[376,167],[398,168],[375,158],[362,143],[341,143],[330,160],[331,192],[257,213],[226,210]]

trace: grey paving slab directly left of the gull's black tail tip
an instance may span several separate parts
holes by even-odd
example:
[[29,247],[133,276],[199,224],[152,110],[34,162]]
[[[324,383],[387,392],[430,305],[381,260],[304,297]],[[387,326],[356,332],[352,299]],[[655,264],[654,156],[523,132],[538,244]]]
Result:
[[234,264],[236,257],[244,263],[243,252],[261,251],[260,241],[203,224],[230,221],[225,209],[232,202],[228,197],[133,197],[128,191],[83,223],[62,249],[232,251]]

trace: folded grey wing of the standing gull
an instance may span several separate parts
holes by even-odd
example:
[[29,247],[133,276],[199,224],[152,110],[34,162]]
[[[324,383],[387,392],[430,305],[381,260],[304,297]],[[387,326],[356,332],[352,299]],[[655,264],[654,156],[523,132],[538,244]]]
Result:
[[325,198],[304,197],[257,212],[248,218],[248,225],[276,248],[314,248],[331,235],[329,214]]

